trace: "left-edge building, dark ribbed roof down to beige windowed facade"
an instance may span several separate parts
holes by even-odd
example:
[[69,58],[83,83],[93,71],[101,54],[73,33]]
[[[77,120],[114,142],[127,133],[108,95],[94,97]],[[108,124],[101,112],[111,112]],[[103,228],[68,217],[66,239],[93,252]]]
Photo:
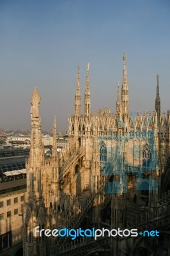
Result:
[[22,203],[29,150],[0,150],[0,255],[22,255]]

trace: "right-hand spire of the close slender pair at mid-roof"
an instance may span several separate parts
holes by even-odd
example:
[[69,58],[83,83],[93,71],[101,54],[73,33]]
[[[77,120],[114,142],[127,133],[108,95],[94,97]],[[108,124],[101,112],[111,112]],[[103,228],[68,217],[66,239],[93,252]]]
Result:
[[84,95],[84,115],[90,115],[89,62],[87,64],[86,90]]

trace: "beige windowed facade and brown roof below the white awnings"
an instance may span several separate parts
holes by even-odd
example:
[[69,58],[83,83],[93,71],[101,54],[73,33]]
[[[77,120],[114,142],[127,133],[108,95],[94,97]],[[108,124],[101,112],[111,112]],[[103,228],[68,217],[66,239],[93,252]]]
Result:
[[[13,171],[12,171],[13,172]],[[10,176],[8,176],[9,179]],[[0,255],[22,255],[22,209],[26,177],[0,182]]]

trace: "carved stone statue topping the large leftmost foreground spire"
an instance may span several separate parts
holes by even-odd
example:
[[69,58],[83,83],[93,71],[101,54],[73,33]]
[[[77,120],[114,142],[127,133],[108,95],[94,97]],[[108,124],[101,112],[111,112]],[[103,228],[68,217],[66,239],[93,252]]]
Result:
[[40,94],[38,93],[38,90],[35,88],[31,97],[31,118],[39,117],[40,100]]

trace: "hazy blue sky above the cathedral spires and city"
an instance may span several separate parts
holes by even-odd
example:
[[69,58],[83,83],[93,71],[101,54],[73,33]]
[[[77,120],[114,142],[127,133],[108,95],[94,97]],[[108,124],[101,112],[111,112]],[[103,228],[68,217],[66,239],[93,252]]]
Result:
[[1,0],[0,128],[29,129],[35,86],[42,129],[68,127],[81,65],[82,111],[86,63],[91,109],[115,111],[117,82],[127,54],[130,109],[152,111],[157,73],[162,110],[170,109],[169,0]]

